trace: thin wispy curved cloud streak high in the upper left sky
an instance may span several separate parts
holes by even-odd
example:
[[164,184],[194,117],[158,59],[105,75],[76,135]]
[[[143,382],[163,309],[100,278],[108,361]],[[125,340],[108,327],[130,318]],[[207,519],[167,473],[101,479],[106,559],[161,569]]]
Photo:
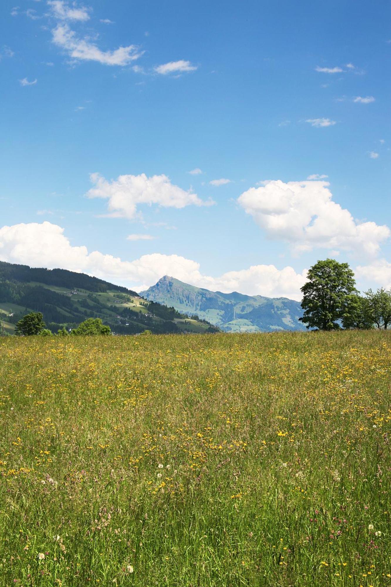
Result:
[[52,42],[64,49],[76,61],[97,61],[104,65],[129,65],[143,55],[143,52],[140,52],[135,45],[119,47],[114,51],[102,51],[89,39],[77,38],[75,31],[66,24],[56,26],[52,35]]

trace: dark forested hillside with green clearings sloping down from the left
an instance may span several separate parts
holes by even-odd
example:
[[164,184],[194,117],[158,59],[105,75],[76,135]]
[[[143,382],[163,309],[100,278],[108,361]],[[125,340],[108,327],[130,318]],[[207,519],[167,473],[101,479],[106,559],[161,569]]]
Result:
[[65,269],[31,268],[0,261],[0,333],[12,333],[28,312],[42,312],[52,332],[75,328],[86,318],[102,318],[117,334],[217,332],[173,307],[147,301],[103,279]]

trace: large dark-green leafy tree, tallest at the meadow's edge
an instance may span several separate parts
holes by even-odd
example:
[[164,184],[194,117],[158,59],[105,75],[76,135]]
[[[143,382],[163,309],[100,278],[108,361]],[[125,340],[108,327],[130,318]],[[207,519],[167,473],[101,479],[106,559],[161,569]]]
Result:
[[308,271],[308,281],[302,286],[299,318],[307,328],[333,330],[339,328],[352,294],[358,294],[352,269],[335,259],[318,261]]

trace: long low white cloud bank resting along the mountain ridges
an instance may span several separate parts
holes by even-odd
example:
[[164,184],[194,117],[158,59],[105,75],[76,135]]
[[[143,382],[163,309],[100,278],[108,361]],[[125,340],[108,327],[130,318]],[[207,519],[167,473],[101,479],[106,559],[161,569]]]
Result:
[[306,271],[297,274],[289,266],[279,270],[274,265],[254,265],[214,278],[201,274],[196,261],[179,255],[154,253],[134,261],[123,261],[113,255],[71,245],[64,229],[50,222],[0,228],[0,260],[85,272],[138,291],[155,284],[163,275],[170,275],[214,291],[236,290],[248,295],[301,299],[299,289],[306,281]]

